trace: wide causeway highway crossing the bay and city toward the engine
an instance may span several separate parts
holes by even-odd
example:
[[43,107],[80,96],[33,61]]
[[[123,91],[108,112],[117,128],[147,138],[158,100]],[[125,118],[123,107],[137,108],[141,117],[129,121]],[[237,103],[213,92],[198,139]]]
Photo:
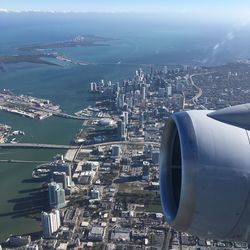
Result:
[[[100,147],[100,146],[111,146],[114,144],[119,145],[154,145],[160,146],[158,142],[137,142],[137,141],[112,141],[112,142],[103,142],[89,145],[81,145],[82,149],[91,148],[91,147]],[[80,146],[72,145],[54,145],[54,144],[40,144],[40,143],[1,143],[0,148],[38,148],[38,149],[78,149]]]

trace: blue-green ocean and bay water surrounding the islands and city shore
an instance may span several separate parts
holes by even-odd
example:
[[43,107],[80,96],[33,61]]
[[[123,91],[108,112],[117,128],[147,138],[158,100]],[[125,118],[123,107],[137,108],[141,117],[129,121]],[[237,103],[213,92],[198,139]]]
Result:
[[[93,104],[91,81],[131,78],[143,65],[209,65],[248,58],[248,27],[209,25],[180,20],[155,20],[119,15],[0,14],[0,55],[17,47],[72,39],[81,34],[112,38],[110,46],[63,48],[57,51],[92,63],[64,67],[7,65],[0,73],[0,89],[47,98],[73,113]],[[230,33],[231,32],[231,33]],[[229,36],[231,34],[231,36]],[[232,49],[234,48],[234,49]],[[118,64],[119,62],[119,64]],[[0,112],[0,122],[25,131],[23,142],[68,144],[80,121],[49,118],[43,121]],[[0,159],[49,161],[58,150],[0,150]],[[0,242],[10,233],[40,231],[40,211],[46,209],[41,183],[31,179],[35,164],[0,163]]]

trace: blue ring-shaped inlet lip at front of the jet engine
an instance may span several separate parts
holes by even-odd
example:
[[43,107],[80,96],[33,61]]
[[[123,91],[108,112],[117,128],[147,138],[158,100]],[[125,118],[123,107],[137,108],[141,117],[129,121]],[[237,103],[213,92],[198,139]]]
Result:
[[[173,127],[174,126],[174,127]],[[177,131],[176,131],[177,130]],[[181,191],[178,207],[173,202],[173,190],[170,183],[169,156],[172,152],[171,132],[179,135],[181,150]],[[195,179],[197,173],[197,141],[192,119],[187,112],[173,114],[166,123],[161,143],[160,190],[161,202],[167,222],[180,231],[190,228],[195,208]]]

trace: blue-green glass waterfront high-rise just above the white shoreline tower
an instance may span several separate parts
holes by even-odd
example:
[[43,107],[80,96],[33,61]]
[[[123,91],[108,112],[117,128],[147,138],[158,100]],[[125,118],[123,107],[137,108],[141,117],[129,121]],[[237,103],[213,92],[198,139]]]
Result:
[[62,208],[65,206],[65,190],[62,184],[51,182],[48,185],[49,204],[51,208]]

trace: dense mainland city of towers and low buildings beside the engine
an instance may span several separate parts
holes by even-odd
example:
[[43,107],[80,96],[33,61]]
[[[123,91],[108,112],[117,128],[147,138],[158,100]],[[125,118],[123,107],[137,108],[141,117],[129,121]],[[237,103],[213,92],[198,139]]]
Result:
[[[225,68],[220,78],[218,70],[211,77],[207,68],[165,66],[139,69],[122,82],[91,83],[98,101],[80,112],[89,118],[77,135],[79,149],[69,150],[65,159],[50,166],[50,210],[41,217],[43,239],[29,239],[26,249],[248,249],[246,243],[174,231],[160,205],[159,154],[165,121],[173,112],[217,107],[205,85],[213,79],[226,81]],[[236,78],[232,72],[228,81]],[[237,76],[246,77],[242,74]],[[244,86],[234,91],[245,100]]]

